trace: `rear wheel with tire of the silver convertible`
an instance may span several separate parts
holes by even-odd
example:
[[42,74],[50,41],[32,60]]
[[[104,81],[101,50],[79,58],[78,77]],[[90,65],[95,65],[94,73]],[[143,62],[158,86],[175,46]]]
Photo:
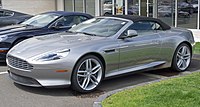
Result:
[[178,72],[187,70],[191,63],[192,52],[186,43],[180,44],[173,56],[171,68]]

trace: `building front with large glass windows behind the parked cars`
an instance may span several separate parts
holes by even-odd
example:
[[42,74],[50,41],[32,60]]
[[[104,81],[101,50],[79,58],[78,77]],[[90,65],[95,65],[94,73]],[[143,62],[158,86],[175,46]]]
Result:
[[84,12],[93,16],[155,17],[174,27],[199,29],[200,0],[0,0],[3,8],[39,14],[51,10]]

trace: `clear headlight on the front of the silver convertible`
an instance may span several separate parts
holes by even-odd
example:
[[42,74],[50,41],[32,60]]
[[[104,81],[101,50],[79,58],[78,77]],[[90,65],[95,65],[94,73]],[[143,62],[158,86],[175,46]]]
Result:
[[39,55],[34,60],[35,61],[51,61],[51,60],[58,60],[66,57],[69,54],[69,49],[57,51],[57,52],[50,52],[43,55]]

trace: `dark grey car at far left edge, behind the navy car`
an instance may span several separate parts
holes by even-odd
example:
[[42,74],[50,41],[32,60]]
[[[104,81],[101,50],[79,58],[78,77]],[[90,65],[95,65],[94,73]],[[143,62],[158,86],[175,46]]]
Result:
[[0,27],[19,24],[31,17],[32,15],[0,9]]

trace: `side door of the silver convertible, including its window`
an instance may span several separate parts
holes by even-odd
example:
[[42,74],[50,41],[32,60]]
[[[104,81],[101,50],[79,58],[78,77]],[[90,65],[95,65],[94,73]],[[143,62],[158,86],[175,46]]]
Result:
[[[161,49],[160,35],[155,28],[156,24],[149,21],[140,21],[132,24],[127,30],[136,30],[138,36],[120,39],[119,68],[127,69],[144,66],[159,60]],[[126,35],[127,30],[122,34]]]

